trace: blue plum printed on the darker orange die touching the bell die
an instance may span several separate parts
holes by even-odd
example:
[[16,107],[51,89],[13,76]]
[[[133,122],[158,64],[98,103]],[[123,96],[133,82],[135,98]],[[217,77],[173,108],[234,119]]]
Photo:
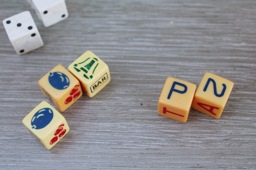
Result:
[[69,79],[68,76],[61,72],[50,72],[50,76],[48,77],[49,83],[58,90],[63,90],[68,88],[69,86]]

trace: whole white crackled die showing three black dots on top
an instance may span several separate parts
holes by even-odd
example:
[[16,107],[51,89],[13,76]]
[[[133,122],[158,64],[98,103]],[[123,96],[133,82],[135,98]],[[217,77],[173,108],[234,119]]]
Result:
[[3,20],[5,31],[18,55],[26,54],[44,45],[29,11]]

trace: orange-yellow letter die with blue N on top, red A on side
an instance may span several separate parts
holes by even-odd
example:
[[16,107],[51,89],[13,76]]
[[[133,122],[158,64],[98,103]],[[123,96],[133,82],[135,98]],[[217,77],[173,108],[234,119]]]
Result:
[[196,90],[192,107],[219,119],[233,86],[232,81],[206,72]]

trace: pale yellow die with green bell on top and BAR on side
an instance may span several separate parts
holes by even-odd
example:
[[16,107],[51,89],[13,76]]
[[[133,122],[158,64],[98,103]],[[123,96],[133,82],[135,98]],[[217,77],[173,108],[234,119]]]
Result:
[[108,65],[91,51],[85,52],[68,66],[80,81],[83,92],[93,97],[110,82]]

